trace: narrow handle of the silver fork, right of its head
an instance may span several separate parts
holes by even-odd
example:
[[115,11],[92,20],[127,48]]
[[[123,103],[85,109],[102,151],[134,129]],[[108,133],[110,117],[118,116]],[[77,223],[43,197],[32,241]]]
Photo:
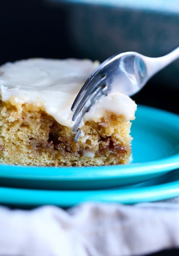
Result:
[[147,57],[148,60],[148,75],[152,77],[155,73],[159,72],[162,68],[169,65],[171,62],[179,58],[179,46],[170,53],[157,58]]

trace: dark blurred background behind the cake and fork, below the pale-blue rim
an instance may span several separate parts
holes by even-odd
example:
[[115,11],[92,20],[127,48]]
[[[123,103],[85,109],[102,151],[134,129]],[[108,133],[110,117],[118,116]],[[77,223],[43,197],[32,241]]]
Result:
[[[139,4],[134,8],[92,2],[1,1],[0,64],[31,57],[104,61],[123,51],[156,57],[179,44],[177,8],[169,12]],[[155,75],[133,99],[179,113],[178,92],[179,60]]]

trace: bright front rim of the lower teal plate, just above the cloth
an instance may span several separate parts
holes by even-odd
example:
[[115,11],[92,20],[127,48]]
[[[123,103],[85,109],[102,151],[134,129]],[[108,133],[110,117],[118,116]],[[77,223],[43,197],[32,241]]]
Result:
[[[148,189],[150,188],[150,191]],[[151,189],[153,191],[151,192]],[[126,190],[126,191],[125,191]],[[135,192],[137,190],[137,193]],[[35,192],[36,197],[32,196]],[[91,193],[90,191],[87,191]],[[101,191],[97,191],[95,193],[101,193]],[[14,189],[14,188],[4,188],[0,187],[0,203],[13,204],[13,205],[57,205],[61,207],[71,207],[79,203],[83,202],[104,202],[104,203],[123,203],[123,204],[136,204],[141,202],[154,202],[159,200],[166,200],[169,198],[174,198],[179,196],[179,180],[171,183],[164,183],[160,185],[149,186],[145,188],[131,189],[127,193],[127,189],[124,190],[113,190],[112,193],[109,191],[104,193],[102,198],[99,198],[101,195],[97,195],[96,198],[94,195],[90,198],[81,196],[79,199],[79,193],[86,193],[84,191],[47,191],[47,190],[31,190],[31,189]],[[11,196],[9,196],[11,193]],[[18,193],[23,193],[23,199],[19,197]],[[65,196],[69,199],[66,200]],[[117,193],[119,193],[117,195]],[[126,193],[126,195],[124,195]],[[136,194],[135,194],[136,193]],[[27,194],[27,195],[26,195]],[[29,195],[28,195],[29,194]],[[45,200],[39,200],[39,196],[44,196]],[[66,195],[64,195],[66,194]],[[74,195],[76,194],[76,198],[74,199]],[[128,194],[128,195],[127,195]],[[130,194],[130,195],[129,195]],[[52,195],[51,202],[47,199],[49,195]],[[73,196],[72,196],[73,195]],[[136,198],[137,195],[137,198]],[[107,196],[107,198],[105,198]],[[3,198],[4,199],[3,199]],[[55,198],[57,197],[57,198]],[[103,198],[104,197],[104,198]],[[121,197],[121,198],[120,198]],[[35,199],[35,200],[34,200]]]

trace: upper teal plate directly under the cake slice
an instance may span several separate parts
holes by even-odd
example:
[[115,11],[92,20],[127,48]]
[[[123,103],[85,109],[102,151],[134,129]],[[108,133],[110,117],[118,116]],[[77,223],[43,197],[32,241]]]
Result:
[[138,106],[133,163],[120,166],[0,166],[0,185],[37,189],[103,189],[141,183],[179,168],[179,116]]

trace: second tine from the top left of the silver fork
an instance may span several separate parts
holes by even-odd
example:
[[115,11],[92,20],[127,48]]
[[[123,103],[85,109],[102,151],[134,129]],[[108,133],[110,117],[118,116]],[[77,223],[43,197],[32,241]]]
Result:
[[[81,99],[81,101],[79,102],[78,107],[76,108],[72,120],[74,121],[76,119],[76,117],[79,115],[80,111],[82,110],[82,108],[84,107],[84,105],[86,104],[86,102],[89,100],[91,93],[93,93],[93,91],[95,90],[95,88],[98,87],[98,85],[100,85],[100,83],[105,79],[105,77],[102,77],[100,80],[97,81],[97,83],[95,84],[91,84],[90,88],[86,91],[86,94],[88,94],[87,96],[83,96],[83,98]],[[101,86],[99,86],[100,89]],[[96,89],[97,90],[97,89]]]

